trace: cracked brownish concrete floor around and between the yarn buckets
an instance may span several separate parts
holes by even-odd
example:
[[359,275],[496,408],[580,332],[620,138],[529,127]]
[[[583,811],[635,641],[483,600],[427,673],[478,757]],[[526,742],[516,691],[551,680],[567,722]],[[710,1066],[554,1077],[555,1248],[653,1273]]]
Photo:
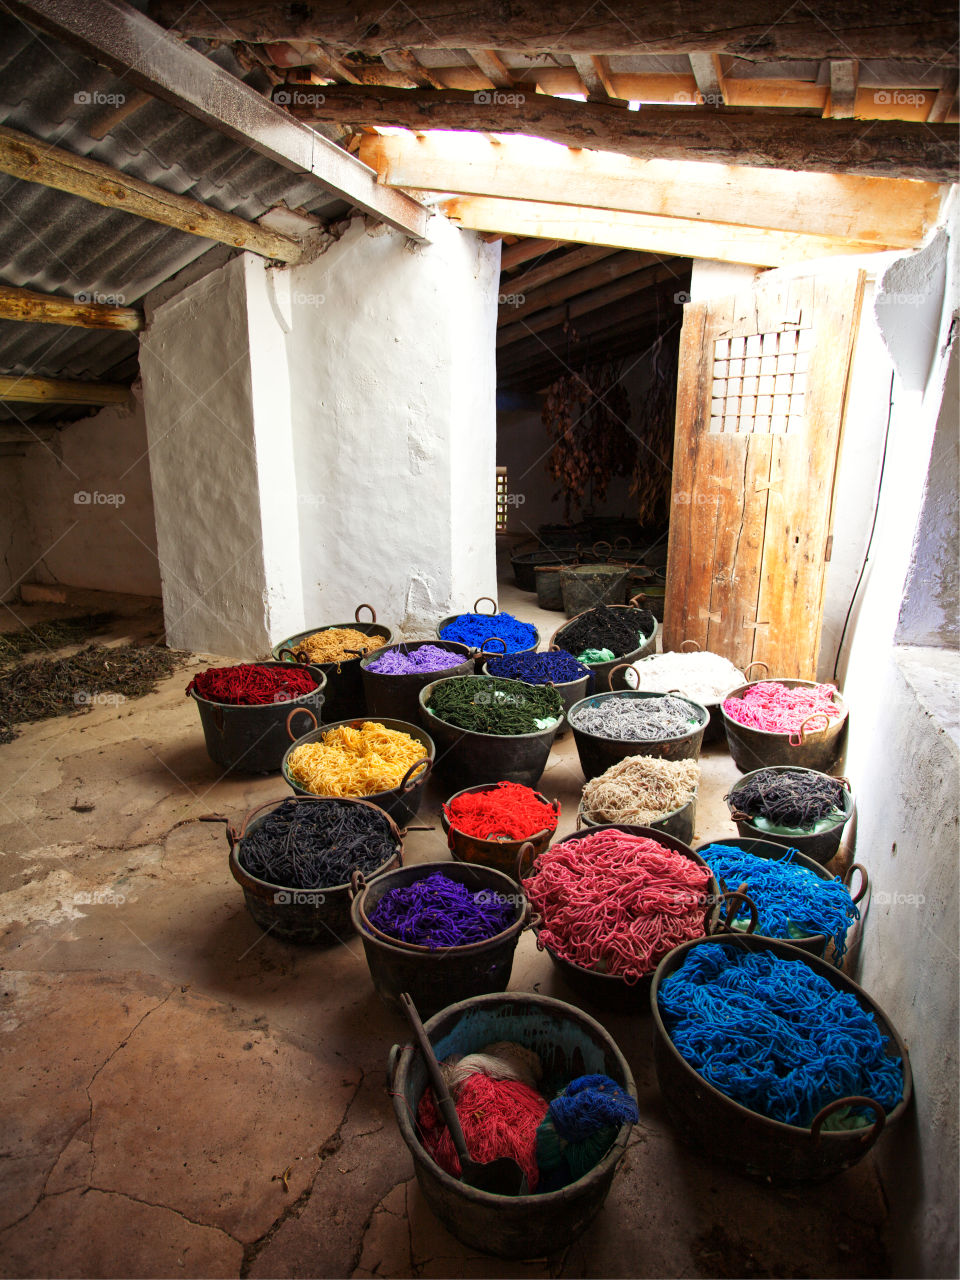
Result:
[[[540,626],[562,616],[500,593]],[[18,609],[29,621],[50,608]],[[113,628],[148,635],[142,602]],[[626,1053],[636,1125],[605,1207],[564,1253],[465,1249],[426,1208],[384,1088],[404,1023],[358,941],[264,936],[227,865],[218,812],[280,797],[224,778],[183,696],[193,669],[120,707],[27,726],[0,746],[3,1162],[8,1276],[881,1276],[884,1196],[872,1160],[777,1189],[681,1147],[660,1115],[644,1016],[590,1010]],[[730,835],[739,774],[703,759],[696,838]],[[570,735],[540,783],[573,826]],[[406,858],[447,859],[430,785]],[[511,987],[573,998],[525,936]],[[575,1001],[576,1002],[576,1001]]]

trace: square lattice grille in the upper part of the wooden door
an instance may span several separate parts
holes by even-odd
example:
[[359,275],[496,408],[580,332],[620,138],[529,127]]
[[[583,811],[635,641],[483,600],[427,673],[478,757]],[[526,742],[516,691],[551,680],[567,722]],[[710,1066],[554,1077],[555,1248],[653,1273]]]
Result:
[[786,435],[804,422],[813,329],[780,329],[713,344],[710,431]]

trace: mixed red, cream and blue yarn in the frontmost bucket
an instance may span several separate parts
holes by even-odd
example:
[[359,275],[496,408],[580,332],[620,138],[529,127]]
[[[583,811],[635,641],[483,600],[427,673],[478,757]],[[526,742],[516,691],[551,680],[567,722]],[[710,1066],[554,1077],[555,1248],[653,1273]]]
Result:
[[[584,1075],[552,1102],[540,1092],[543,1066],[532,1050],[500,1042],[440,1062],[472,1160],[509,1156],[526,1174],[530,1192],[576,1181],[609,1151],[621,1125],[637,1120],[636,1102],[607,1075]],[[460,1160],[433,1092],[417,1107],[428,1153],[458,1178]]]

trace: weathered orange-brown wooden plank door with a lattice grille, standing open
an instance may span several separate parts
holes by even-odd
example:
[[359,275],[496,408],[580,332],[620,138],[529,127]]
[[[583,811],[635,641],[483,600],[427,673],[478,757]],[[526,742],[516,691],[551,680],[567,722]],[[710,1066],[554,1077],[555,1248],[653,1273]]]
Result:
[[864,273],[687,303],[663,648],[815,676]]

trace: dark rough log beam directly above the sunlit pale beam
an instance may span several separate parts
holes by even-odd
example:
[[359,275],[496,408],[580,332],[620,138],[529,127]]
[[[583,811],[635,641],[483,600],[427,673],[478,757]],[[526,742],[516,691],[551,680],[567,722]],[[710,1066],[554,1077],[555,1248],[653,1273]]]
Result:
[[649,108],[630,111],[607,102],[576,102],[526,93],[520,102],[481,102],[457,90],[328,86],[324,101],[292,108],[311,123],[389,124],[412,129],[527,133],[572,147],[641,159],[854,173],[867,177],[951,182],[960,148],[945,124],[819,120],[751,111]]

